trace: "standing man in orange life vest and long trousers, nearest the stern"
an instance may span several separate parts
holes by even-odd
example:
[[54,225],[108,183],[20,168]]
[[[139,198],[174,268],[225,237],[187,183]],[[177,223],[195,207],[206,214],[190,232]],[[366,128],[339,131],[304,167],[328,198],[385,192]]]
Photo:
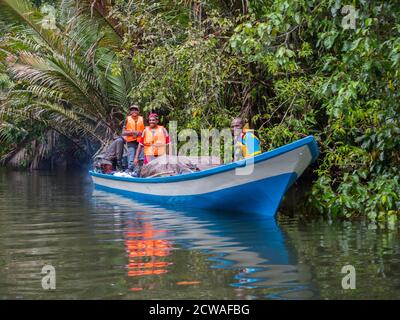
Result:
[[[134,159],[136,151],[139,147],[139,140],[144,131],[143,117],[139,116],[139,106],[137,104],[131,105],[129,108],[129,116],[125,120],[124,128],[122,130],[122,136],[125,138],[128,147],[128,170],[136,171]],[[143,152],[139,155],[139,161],[143,162]]]

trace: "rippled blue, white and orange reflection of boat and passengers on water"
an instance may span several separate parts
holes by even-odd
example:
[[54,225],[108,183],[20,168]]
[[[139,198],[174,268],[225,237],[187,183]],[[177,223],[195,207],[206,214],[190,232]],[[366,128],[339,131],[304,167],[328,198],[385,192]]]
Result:
[[[94,201],[101,201],[103,207],[108,203],[111,208],[118,208],[113,212],[118,212],[115,219],[121,220],[120,224],[124,226],[123,237],[129,256],[128,276],[138,280],[131,291],[156,286],[170,288],[172,284],[168,282],[179,279],[179,274],[169,280],[165,277],[179,273],[190,264],[190,255],[184,260],[178,254],[190,251],[201,253],[208,261],[209,270],[230,272],[224,285],[227,290],[231,288],[234,291],[234,298],[310,299],[315,296],[310,284],[310,271],[296,261],[274,218],[255,214],[167,210],[96,189],[93,195]],[[144,279],[151,275],[160,275],[161,278],[150,282]],[[208,271],[208,274],[197,276],[202,276],[202,282],[205,282],[204,278],[215,275]]]

